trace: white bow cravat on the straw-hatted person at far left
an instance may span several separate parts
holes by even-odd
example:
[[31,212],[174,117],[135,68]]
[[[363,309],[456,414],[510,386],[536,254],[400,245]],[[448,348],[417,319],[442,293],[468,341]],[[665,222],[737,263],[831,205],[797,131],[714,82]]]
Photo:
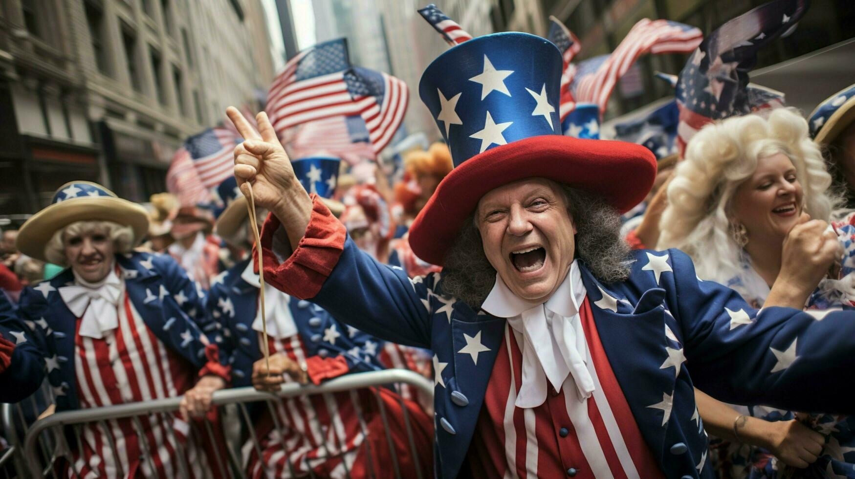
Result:
[[82,316],[80,335],[100,340],[104,333],[119,326],[116,306],[121,295],[121,280],[113,266],[107,277],[95,283],[85,281],[74,269],[72,272],[74,285],[60,287],[59,293],[74,316]]

